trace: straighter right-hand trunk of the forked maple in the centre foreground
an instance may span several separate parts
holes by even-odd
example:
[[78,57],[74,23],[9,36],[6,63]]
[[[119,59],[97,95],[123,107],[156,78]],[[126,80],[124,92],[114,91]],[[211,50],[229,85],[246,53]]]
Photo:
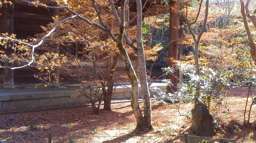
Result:
[[[151,130],[152,127],[152,118],[151,118],[151,102],[150,102],[150,94],[147,86],[147,74],[146,74],[146,61],[144,54],[144,47],[142,43],[142,7],[141,0],[136,0],[137,4],[137,34],[136,34],[136,42],[137,42],[137,55],[138,55],[138,66],[139,66],[139,78],[143,101],[144,101],[144,124],[145,126]],[[151,40],[152,40],[152,36]]]

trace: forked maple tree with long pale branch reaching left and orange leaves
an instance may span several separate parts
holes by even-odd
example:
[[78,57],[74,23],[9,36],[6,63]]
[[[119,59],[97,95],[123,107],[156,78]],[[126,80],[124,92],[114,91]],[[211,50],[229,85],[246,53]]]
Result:
[[[27,41],[27,40],[17,40],[14,37],[9,37],[8,35],[3,35],[1,37],[2,45],[6,45],[6,42],[11,41],[11,42],[17,42],[17,43],[19,43],[19,45],[26,46],[28,64],[24,64],[27,62],[27,61],[25,61],[23,63],[24,65],[22,65],[22,66],[17,66],[17,67],[1,66],[2,68],[6,68],[6,69],[9,68],[9,69],[13,70],[13,69],[24,68],[27,66],[32,66],[32,63],[33,64],[37,63],[37,58],[35,56],[37,54],[35,54],[35,52],[34,52],[35,49],[38,48],[40,45],[42,45],[42,43],[45,42],[47,40],[46,38],[49,38],[50,35],[56,34],[57,37],[58,37],[58,35],[61,35],[61,33],[58,33],[55,30],[58,27],[64,28],[64,25],[63,25],[64,22],[69,21],[69,20],[79,19],[79,20],[85,22],[86,24],[84,25],[84,23],[80,23],[76,26],[83,26],[83,27],[86,27],[88,25],[95,26],[95,27],[97,27],[96,34],[101,33],[101,32],[106,32],[106,34],[112,39],[113,43],[116,44],[116,47],[118,48],[119,52],[121,53],[122,58],[124,59],[124,63],[126,65],[126,72],[127,72],[127,75],[129,77],[131,85],[132,85],[132,102],[131,102],[131,104],[132,104],[132,109],[135,114],[135,119],[137,121],[137,128],[141,129],[141,130],[143,130],[144,128],[149,128],[149,129],[153,128],[152,124],[151,124],[151,120],[152,120],[151,119],[151,105],[150,105],[151,103],[150,103],[149,90],[148,90],[148,86],[147,86],[146,65],[145,65],[145,57],[144,57],[144,48],[143,48],[143,43],[142,43],[142,11],[141,11],[142,5],[141,5],[140,0],[137,1],[137,8],[136,8],[137,9],[136,45],[128,38],[126,32],[124,32],[125,27],[128,27],[128,25],[129,25],[129,23],[127,25],[125,25],[125,21],[127,21],[127,16],[129,17],[129,14],[124,15],[126,1],[123,1],[123,0],[120,1],[121,9],[118,10],[118,11],[120,11],[120,15],[118,15],[117,9],[112,0],[110,0],[109,2],[103,1],[102,3],[98,3],[98,2],[96,3],[96,1],[94,1],[94,0],[84,1],[81,4],[86,4],[86,5],[92,4],[92,7],[88,6],[86,8],[81,7],[81,5],[78,4],[76,1],[69,1],[69,2],[56,1],[59,6],[47,6],[46,4],[40,3],[39,1],[33,1],[33,2],[25,1],[25,0],[20,0],[20,1],[34,5],[36,7],[45,7],[45,8],[50,8],[50,9],[66,10],[65,12],[63,12],[63,14],[67,15],[67,17],[64,17],[64,19],[61,21],[56,21],[55,26],[52,27],[52,29],[49,29],[49,32],[46,32],[46,35],[44,35],[38,43],[35,42],[35,44],[34,43],[30,44],[29,41]],[[99,5],[99,6],[97,6],[97,5]],[[119,29],[119,30],[112,31],[112,29],[110,29],[109,26],[107,26],[107,24],[103,21],[103,17],[105,17],[105,16],[107,17],[108,15],[102,14],[101,10],[99,10],[99,7],[100,8],[106,7],[106,5],[109,5],[110,11],[112,11],[112,15],[114,15],[114,17],[115,17],[115,23],[117,24],[117,29]],[[128,3],[128,5],[129,5],[129,3]],[[96,13],[92,12],[94,10]],[[127,9],[126,9],[126,11],[127,11]],[[81,13],[81,14],[78,14],[78,13]],[[89,17],[86,18],[83,15],[88,15]],[[120,18],[119,18],[119,16],[120,16]],[[99,24],[96,21],[98,21]],[[100,29],[100,30],[98,30],[98,29]],[[74,29],[74,31],[76,31],[76,30]],[[118,34],[117,38],[114,35],[114,32],[116,32],[115,34]],[[64,33],[65,33],[65,31],[64,31]],[[78,39],[84,40],[84,38],[82,38],[83,36],[75,37],[75,36],[73,36],[73,34],[81,35],[81,33],[79,33],[79,32],[67,33],[66,39],[75,38],[75,40],[78,40]],[[62,36],[60,36],[60,37],[62,37]],[[87,38],[90,38],[90,37],[88,36]],[[132,67],[131,61],[129,59],[129,55],[127,53],[127,49],[125,48],[124,43],[123,43],[123,39],[125,39],[127,45],[129,45],[132,49],[134,49],[134,51],[136,52],[136,54],[138,56],[138,61],[139,61],[138,74],[139,74],[140,84],[141,84],[141,94],[142,94],[143,100],[144,100],[144,116],[142,115],[142,112],[138,106],[138,78],[136,76],[135,70]],[[99,44],[97,44],[97,45],[99,45]],[[20,49],[21,46],[19,46],[18,48]],[[5,54],[3,56],[5,56]],[[57,62],[57,63],[59,63],[58,66],[61,66],[61,63],[66,62],[65,56],[64,55],[60,55],[60,56],[63,56],[63,58],[61,58],[61,57],[52,58],[54,60],[58,60],[58,62]],[[18,57],[18,58],[22,58],[22,56]],[[43,61],[44,63],[48,62],[47,61],[48,58],[44,58],[44,59],[45,59]],[[19,59],[15,59],[15,60],[19,60]],[[63,61],[60,61],[60,60],[63,60]],[[75,60],[75,61],[78,62],[79,60]],[[43,63],[42,61],[40,61],[40,62]],[[22,64],[22,63],[20,63],[20,64]],[[77,64],[74,64],[74,65],[77,65]],[[56,66],[54,66],[54,65],[51,66],[52,71],[55,70],[55,68],[56,68]],[[42,70],[42,67],[38,67],[38,69]],[[44,69],[48,70],[49,73],[51,73],[53,77],[56,75],[53,72],[50,72],[48,66],[44,67]],[[97,74],[97,76],[99,76],[98,73],[96,73],[96,74]],[[48,79],[49,81],[51,81],[50,78],[51,78],[51,76],[49,76],[49,79]],[[100,83],[100,82],[97,82],[97,83]],[[90,85],[90,83],[85,83],[85,85]],[[96,84],[96,85],[98,85],[98,84]],[[90,87],[92,87],[92,86],[90,86]],[[100,100],[101,98],[98,98],[98,99]]]

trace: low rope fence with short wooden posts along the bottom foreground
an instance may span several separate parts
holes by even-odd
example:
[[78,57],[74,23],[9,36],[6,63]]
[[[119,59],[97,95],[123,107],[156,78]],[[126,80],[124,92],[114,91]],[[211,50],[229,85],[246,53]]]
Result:
[[[36,132],[36,131],[35,131]],[[36,132],[36,133],[40,133],[40,132]],[[204,137],[204,136],[193,136],[193,135],[188,135],[188,133],[184,133],[184,135],[155,135],[155,136],[68,136],[68,135],[53,135],[52,133],[44,134],[44,133],[40,133],[43,134],[45,136],[48,136],[48,143],[53,143],[53,137],[171,137],[171,136],[184,136],[184,142],[188,143],[189,142],[189,137],[195,137],[195,138],[206,138],[206,139],[218,139],[218,140],[229,140],[229,141],[241,141],[241,142],[256,142],[253,140],[242,140],[242,139],[226,139],[226,138],[211,138],[211,137]]]

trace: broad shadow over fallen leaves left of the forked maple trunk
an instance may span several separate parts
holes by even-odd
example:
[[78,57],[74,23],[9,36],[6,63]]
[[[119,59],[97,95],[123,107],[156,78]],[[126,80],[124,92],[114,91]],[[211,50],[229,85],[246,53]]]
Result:
[[[124,106],[124,108],[129,108],[130,105]],[[160,105],[153,105],[152,109],[154,110],[160,107]],[[124,113],[105,111],[103,109],[100,109],[100,112],[99,115],[95,115],[91,107],[78,107],[4,115],[3,118],[0,119],[0,122],[3,121],[3,124],[0,125],[0,135],[3,139],[20,136],[19,139],[8,139],[7,142],[27,142],[30,139],[31,141],[29,142],[45,142],[48,133],[52,132],[53,136],[55,136],[55,142],[66,142],[67,137],[61,136],[92,136],[93,134],[91,133],[94,131],[97,132],[98,128],[101,128],[101,130],[118,128],[120,125],[120,117],[122,126],[136,122],[134,117],[127,118],[127,116],[132,116],[133,114],[131,108]],[[11,123],[5,122],[8,121],[10,116],[15,116],[16,118],[13,118]],[[31,130],[30,124],[34,124],[33,126],[36,129]],[[124,136],[132,135],[136,135],[136,131],[132,131]],[[118,139],[109,142],[115,142],[121,138],[125,141],[130,137],[118,137]]]

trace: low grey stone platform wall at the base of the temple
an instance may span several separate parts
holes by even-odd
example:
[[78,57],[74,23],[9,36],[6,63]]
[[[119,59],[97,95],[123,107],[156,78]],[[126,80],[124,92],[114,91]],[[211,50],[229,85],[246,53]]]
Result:
[[[163,83],[153,83],[152,86],[165,89]],[[153,96],[154,92],[150,92]],[[130,99],[131,86],[115,88],[113,100]],[[141,95],[140,95],[141,97]],[[34,108],[50,105],[74,105],[89,103],[90,100],[77,91],[65,88],[39,88],[39,89],[0,89],[0,111],[20,108]]]

